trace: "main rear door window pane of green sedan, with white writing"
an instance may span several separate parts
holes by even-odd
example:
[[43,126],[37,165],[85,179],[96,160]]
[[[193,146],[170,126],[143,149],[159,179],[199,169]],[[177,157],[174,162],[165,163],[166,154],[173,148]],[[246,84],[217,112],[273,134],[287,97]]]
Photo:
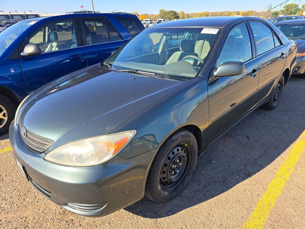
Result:
[[257,47],[257,55],[274,48],[272,31],[263,23],[250,22]]

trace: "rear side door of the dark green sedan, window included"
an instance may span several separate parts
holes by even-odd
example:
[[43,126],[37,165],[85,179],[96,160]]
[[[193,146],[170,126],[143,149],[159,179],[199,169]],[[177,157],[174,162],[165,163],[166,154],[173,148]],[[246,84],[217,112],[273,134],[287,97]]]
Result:
[[255,105],[261,103],[271,92],[282,73],[286,61],[286,48],[266,24],[250,21],[255,51],[260,65],[260,79]]

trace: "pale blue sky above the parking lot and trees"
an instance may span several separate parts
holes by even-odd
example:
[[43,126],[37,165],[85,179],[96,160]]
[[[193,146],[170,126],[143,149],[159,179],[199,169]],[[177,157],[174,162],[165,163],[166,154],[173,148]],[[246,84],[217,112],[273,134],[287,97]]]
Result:
[[[1,0],[0,0],[1,1]],[[271,3],[277,5],[283,0]],[[112,1],[98,1],[94,0],[94,9],[100,12],[110,12],[117,10],[121,12],[134,12],[141,13],[158,13],[159,9],[173,9],[176,11],[183,10],[185,13],[203,12],[203,11],[223,11],[223,10],[257,10],[262,11],[263,8],[270,2],[252,0],[252,1],[204,1],[204,0],[152,0],[152,1],[135,1],[135,0],[112,0]],[[292,3],[292,0],[288,3]],[[81,5],[84,9],[92,10],[91,0],[2,0],[3,9],[5,12],[17,10],[18,12],[32,12],[36,13],[65,13],[69,11],[79,10]],[[1,5],[0,5],[0,9]]]

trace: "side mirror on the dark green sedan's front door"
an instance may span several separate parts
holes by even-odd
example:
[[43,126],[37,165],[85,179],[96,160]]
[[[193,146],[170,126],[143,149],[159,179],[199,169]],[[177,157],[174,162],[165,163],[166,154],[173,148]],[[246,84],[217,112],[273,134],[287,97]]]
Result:
[[239,61],[228,61],[221,64],[219,67],[214,69],[213,76],[231,76],[231,75],[240,75],[245,71],[245,64]]

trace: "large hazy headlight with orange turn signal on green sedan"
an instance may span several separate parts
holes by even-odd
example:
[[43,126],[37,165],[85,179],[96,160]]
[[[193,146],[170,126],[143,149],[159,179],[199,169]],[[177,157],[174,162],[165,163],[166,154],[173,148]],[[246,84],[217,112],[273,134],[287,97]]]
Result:
[[136,133],[129,130],[66,143],[45,155],[45,160],[69,166],[98,165],[117,155]]

